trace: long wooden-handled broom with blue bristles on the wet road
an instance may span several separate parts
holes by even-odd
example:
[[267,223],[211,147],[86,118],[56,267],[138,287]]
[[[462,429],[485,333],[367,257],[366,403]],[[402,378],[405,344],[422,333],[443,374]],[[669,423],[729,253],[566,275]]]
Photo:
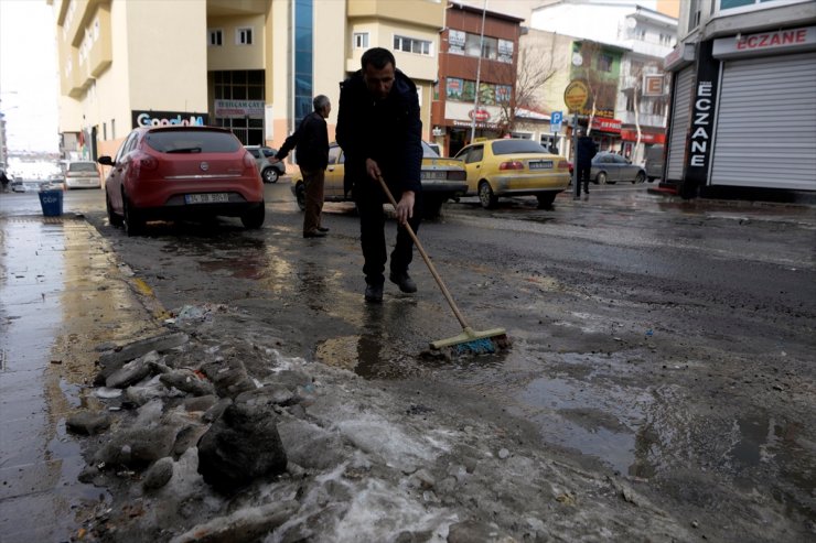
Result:
[[[388,185],[386,185],[385,180],[383,178],[382,175],[377,175],[377,181],[379,181],[379,185],[383,187],[383,192],[385,192],[386,196],[388,196],[388,202],[390,202],[391,206],[394,206],[394,209],[396,210],[397,202],[394,199],[394,195],[388,189]],[[492,328],[488,330],[474,330],[468,325],[468,322],[464,319],[464,315],[462,315],[462,312],[460,312],[459,307],[457,307],[457,303],[453,301],[453,296],[451,296],[450,291],[448,291],[448,287],[444,285],[444,282],[442,281],[442,278],[439,275],[439,273],[437,272],[437,269],[433,267],[431,259],[428,258],[428,253],[425,252],[422,245],[419,242],[417,235],[414,232],[414,228],[411,228],[411,226],[407,221],[402,226],[405,227],[405,229],[408,231],[408,235],[414,240],[414,245],[417,246],[417,250],[422,256],[422,260],[425,260],[425,263],[428,265],[428,269],[430,270],[431,275],[433,275],[433,279],[437,280],[437,284],[439,285],[439,289],[442,291],[442,295],[448,301],[448,305],[451,306],[453,314],[457,316],[459,324],[462,326],[461,334],[453,336],[453,337],[449,337],[447,339],[439,339],[438,341],[431,341],[429,344],[430,348],[434,350],[441,350],[443,348],[449,347],[457,355],[469,354],[469,352],[481,355],[481,354],[487,354],[487,352],[495,352],[497,349],[508,347],[509,339],[507,338],[507,332],[504,328]]]

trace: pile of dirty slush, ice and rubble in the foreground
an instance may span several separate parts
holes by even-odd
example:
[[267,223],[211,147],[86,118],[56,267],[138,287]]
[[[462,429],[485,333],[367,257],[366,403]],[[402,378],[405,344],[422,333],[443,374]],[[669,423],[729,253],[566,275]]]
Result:
[[[189,312],[190,313],[190,312]],[[222,308],[214,318],[229,318]],[[690,524],[610,478],[459,420],[412,395],[286,358],[275,338],[216,324],[103,352],[107,412],[78,412],[80,480],[110,502],[82,511],[82,541],[690,541]]]

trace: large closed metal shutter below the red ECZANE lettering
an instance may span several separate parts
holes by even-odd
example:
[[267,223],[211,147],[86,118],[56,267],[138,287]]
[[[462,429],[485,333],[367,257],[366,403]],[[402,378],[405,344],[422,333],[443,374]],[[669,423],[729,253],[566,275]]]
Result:
[[712,185],[816,191],[816,53],[727,62]]

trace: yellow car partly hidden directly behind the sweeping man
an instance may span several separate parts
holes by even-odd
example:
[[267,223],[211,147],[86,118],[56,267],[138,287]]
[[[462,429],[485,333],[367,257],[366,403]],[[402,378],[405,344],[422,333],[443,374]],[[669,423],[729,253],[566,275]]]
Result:
[[[455,199],[468,189],[464,180],[464,166],[461,161],[440,158],[433,149],[422,142],[422,215],[426,218],[436,218],[442,209],[442,204]],[[329,145],[329,166],[325,171],[325,186],[323,189],[326,202],[351,202],[351,195],[345,194],[343,177],[345,176],[345,155],[336,143]],[[305,192],[303,176],[298,173],[292,176],[292,194],[298,200],[298,207],[305,209]]]

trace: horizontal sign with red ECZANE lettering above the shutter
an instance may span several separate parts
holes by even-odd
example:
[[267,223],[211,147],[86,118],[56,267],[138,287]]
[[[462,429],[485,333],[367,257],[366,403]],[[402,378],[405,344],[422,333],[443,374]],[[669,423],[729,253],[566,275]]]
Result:
[[816,26],[759,32],[715,40],[716,58],[737,58],[760,54],[816,50]]

